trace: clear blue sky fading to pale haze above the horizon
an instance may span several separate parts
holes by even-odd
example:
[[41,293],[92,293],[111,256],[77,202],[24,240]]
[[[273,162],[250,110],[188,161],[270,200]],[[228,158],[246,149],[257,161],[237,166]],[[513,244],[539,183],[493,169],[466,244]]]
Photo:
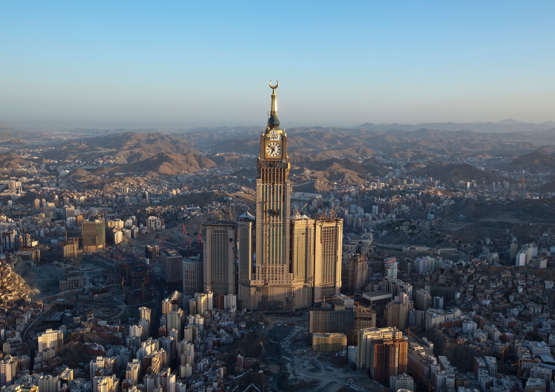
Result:
[[555,2],[0,2],[0,124],[555,120]]

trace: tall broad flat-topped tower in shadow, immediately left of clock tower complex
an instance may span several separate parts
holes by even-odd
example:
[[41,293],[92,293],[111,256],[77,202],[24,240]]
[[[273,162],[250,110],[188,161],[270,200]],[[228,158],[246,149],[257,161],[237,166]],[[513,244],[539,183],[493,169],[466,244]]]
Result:
[[204,291],[235,294],[237,226],[233,223],[203,225]]

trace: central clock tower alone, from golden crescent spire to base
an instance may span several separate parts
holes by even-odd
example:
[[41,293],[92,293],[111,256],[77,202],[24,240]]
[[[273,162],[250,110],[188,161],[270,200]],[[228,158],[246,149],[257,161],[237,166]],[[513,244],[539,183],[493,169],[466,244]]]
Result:
[[276,88],[270,81],[268,127],[260,135],[256,168],[256,259],[251,280],[251,308],[260,311],[293,310],[293,274],[289,262],[289,158],[287,135],[280,129]]

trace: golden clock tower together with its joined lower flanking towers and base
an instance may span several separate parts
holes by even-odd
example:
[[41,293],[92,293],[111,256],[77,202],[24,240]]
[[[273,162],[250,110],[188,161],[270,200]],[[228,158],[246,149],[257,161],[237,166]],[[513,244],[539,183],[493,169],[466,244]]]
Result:
[[238,300],[242,308],[292,311],[339,294],[342,219],[291,215],[287,134],[270,82],[268,127],[260,135],[256,218],[238,220]]

